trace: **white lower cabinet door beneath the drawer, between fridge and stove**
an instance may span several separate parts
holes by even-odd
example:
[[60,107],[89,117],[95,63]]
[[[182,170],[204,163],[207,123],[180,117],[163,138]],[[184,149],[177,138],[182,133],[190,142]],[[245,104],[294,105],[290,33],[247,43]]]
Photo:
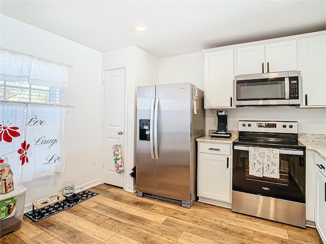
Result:
[[230,158],[199,154],[198,196],[230,202]]

